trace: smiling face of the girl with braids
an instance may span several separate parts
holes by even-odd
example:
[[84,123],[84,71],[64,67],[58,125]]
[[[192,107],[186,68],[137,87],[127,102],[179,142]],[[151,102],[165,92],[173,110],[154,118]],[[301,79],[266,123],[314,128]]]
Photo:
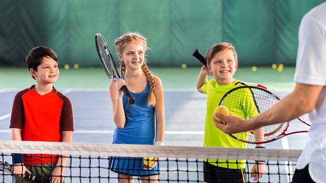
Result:
[[140,69],[145,60],[145,48],[140,42],[131,42],[119,54],[119,58],[125,62],[127,70]]

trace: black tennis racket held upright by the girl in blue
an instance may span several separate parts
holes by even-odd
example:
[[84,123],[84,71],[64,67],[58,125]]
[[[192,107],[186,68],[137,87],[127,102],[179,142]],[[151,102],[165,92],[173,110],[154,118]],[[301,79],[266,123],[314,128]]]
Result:
[[[118,73],[116,64],[114,63],[114,60],[112,58],[109,46],[106,43],[102,34],[97,33],[95,35],[95,42],[96,42],[97,53],[99,54],[101,64],[104,68],[105,73],[112,81],[114,80],[117,81],[121,77]],[[122,86],[121,90],[124,92],[125,96],[127,97],[129,104],[134,104],[135,98],[132,96],[127,86],[125,85]]]

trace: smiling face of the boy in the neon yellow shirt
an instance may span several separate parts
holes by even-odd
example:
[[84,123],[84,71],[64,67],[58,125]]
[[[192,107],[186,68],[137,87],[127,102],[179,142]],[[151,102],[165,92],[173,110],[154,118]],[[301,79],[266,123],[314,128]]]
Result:
[[234,82],[233,75],[237,67],[238,62],[234,58],[233,51],[223,50],[215,54],[207,69],[213,74],[217,84],[229,85]]

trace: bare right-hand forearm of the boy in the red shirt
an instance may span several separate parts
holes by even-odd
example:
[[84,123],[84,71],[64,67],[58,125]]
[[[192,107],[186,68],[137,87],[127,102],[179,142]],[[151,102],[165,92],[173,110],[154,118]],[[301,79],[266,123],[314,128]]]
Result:
[[[72,131],[62,131],[62,142],[72,142]],[[59,157],[56,168],[52,172],[52,181],[53,183],[63,182],[63,177],[65,175],[65,166],[67,163],[67,157],[69,155],[62,155]],[[61,177],[60,177],[61,176]]]

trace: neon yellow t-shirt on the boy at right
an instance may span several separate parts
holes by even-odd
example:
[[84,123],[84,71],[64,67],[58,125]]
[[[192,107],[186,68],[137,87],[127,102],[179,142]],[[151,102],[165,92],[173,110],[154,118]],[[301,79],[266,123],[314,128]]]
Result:
[[[247,84],[246,84],[247,85]],[[248,85],[253,85],[248,83]],[[228,134],[225,134],[220,129],[216,128],[213,122],[214,109],[220,103],[223,95],[231,89],[243,86],[238,81],[235,81],[230,85],[218,85],[215,79],[205,83],[201,89],[207,94],[206,102],[206,119],[205,119],[205,134],[204,134],[204,147],[233,147],[233,148],[247,148],[247,143],[238,141]],[[248,119],[258,114],[258,111],[253,116],[247,115],[247,110],[256,110],[256,106],[251,100],[252,97],[246,95],[239,98],[236,110],[229,108],[233,116],[238,116],[244,119]],[[210,164],[230,169],[244,169],[246,167],[246,160],[204,160]]]

